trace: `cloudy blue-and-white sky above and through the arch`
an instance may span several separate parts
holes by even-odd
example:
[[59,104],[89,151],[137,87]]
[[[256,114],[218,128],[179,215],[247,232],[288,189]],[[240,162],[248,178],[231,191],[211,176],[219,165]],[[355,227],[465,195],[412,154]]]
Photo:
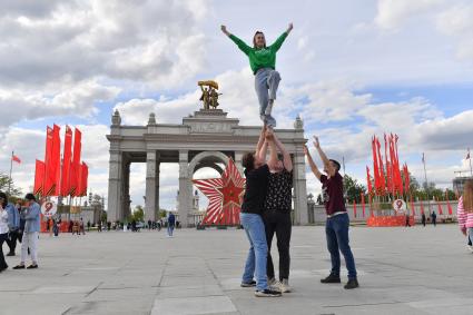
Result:
[[[180,124],[199,108],[197,80],[219,82],[220,106],[240,125],[260,125],[248,60],[220,31],[272,42],[277,55],[274,115],[321,138],[346,173],[365,184],[371,137],[400,136],[400,159],[440,187],[467,170],[473,147],[473,2],[335,1],[0,1],[0,171],[11,151],[23,193],[45,156],[46,126],[77,126],[89,187],[107,199],[110,116],[122,124]],[[63,137],[63,128],[61,130]],[[313,149],[312,145],[311,148]],[[177,165],[161,166],[160,205],[176,207]],[[204,169],[196,177],[215,177]],[[142,205],[145,165],[131,166],[130,195]],[[307,168],[307,190],[321,185]],[[205,200],[203,207],[205,206]]]

